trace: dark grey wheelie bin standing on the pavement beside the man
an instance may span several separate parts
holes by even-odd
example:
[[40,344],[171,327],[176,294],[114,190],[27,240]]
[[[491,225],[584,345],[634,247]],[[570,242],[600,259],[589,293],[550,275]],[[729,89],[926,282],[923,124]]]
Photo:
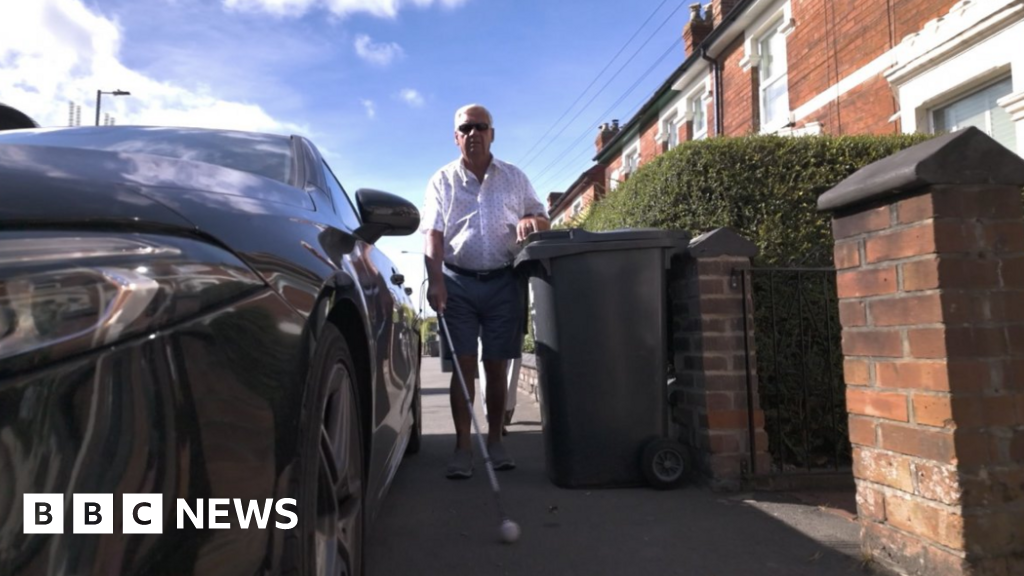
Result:
[[668,438],[668,269],[682,231],[549,231],[516,258],[534,295],[549,479],[563,488],[682,480]]

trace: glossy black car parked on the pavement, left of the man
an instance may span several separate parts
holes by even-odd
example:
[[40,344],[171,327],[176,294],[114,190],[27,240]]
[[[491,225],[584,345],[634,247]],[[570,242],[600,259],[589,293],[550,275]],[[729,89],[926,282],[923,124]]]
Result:
[[0,133],[0,574],[361,574],[420,441],[374,243],[419,219],[299,136]]

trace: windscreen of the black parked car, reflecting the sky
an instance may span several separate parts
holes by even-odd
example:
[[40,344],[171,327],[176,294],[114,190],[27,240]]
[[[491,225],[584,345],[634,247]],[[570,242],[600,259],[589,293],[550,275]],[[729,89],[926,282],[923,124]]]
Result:
[[291,139],[274,134],[118,126],[2,132],[0,145],[4,143],[151,154],[215,164],[285,183],[292,180]]

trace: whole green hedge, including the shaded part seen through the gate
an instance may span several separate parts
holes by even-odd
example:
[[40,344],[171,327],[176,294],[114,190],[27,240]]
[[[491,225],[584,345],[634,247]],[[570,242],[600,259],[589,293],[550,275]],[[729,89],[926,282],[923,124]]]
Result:
[[[925,135],[752,135],[686,142],[641,167],[587,214],[587,230],[730,227],[757,266],[833,265],[818,196]],[[755,269],[757,370],[775,471],[850,462],[836,276]],[[766,472],[768,470],[759,470]]]

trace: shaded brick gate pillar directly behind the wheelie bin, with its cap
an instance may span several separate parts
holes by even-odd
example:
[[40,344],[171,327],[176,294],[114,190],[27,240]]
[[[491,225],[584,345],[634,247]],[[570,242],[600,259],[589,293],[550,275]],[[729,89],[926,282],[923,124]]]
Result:
[[[694,450],[701,476],[716,489],[737,490],[750,471],[748,373],[743,342],[743,290],[754,245],[726,229],[695,238],[690,257],[673,272],[673,343],[677,385],[673,415]],[[750,283],[746,297],[750,302]],[[748,310],[751,310],[750,306]],[[748,317],[754,345],[754,318]],[[751,358],[750,385],[759,470],[767,469],[768,438],[757,400]]]

